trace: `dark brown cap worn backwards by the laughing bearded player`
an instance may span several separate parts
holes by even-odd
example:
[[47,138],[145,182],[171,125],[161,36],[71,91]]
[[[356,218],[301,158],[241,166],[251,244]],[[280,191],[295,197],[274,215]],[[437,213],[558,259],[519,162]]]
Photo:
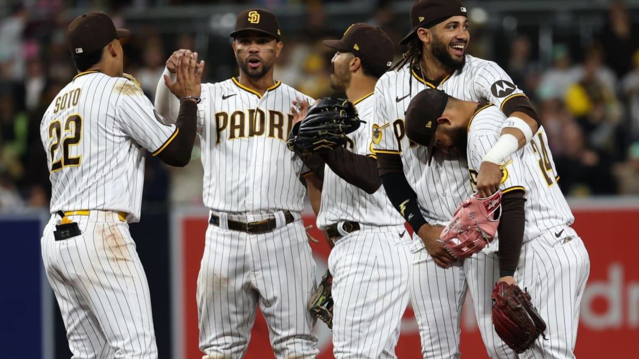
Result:
[[410,9],[410,26],[413,29],[399,43],[407,43],[420,27],[433,27],[459,15],[466,16],[466,7],[459,0],[417,0]]

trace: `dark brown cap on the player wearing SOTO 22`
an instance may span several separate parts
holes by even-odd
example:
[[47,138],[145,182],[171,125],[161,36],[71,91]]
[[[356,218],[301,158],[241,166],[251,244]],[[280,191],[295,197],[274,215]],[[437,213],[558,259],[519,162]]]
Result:
[[102,11],[89,11],[66,27],[66,41],[76,56],[100,50],[113,40],[128,35],[128,30],[116,29],[111,17]]

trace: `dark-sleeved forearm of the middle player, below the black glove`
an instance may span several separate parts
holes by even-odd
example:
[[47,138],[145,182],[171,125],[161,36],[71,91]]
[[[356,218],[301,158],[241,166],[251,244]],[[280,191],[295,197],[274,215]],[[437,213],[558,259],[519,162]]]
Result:
[[362,188],[367,194],[374,194],[380,188],[380,174],[374,158],[357,155],[343,147],[319,155],[337,176],[353,186]]

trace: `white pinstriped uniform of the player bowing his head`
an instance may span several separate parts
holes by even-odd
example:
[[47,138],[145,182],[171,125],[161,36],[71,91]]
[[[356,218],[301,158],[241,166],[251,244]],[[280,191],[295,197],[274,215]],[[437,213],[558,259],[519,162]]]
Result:
[[[481,159],[497,142],[505,119],[495,106],[477,112],[468,126],[468,166],[478,171]],[[574,217],[557,185],[543,127],[531,143],[507,158],[507,177],[502,190],[519,187],[526,191],[524,245],[515,279],[527,287],[532,302],[546,321],[549,340],[537,340],[534,348],[519,358],[574,358],[581,296],[590,272],[590,260],[583,241],[569,227]],[[550,170],[544,164],[550,164]],[[544,172],[550,172],[544,174]],[[546,176],[551,179],[548,183]],[[558,234],[558,235],[557,235]],[[495,251],[498,240],[484,251],[466,259],[464,267],[473,298],[477,323],[491,358],[518,358],[497,336],[491,324],[491,293],[499,278]]]

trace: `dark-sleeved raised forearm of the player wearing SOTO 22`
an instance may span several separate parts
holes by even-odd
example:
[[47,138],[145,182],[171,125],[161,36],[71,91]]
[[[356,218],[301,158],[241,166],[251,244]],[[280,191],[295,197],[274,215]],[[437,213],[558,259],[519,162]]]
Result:
[[196,139],[197,103],[194,100],[183,100],[177,117],[178,134],[160,152],[159,157],[167,165],[184,167],[189,164]]

